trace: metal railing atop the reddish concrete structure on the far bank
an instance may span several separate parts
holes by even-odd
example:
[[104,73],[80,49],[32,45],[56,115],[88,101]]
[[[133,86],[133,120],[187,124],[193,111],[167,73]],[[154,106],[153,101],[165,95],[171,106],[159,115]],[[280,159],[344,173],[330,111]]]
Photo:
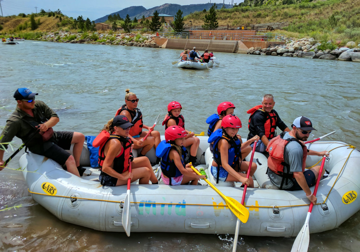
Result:
[[207,40],[248,40],[248,41],[284,41],[284,34],[262,32],[158,32],[159,37],[169,39],[207,39]]

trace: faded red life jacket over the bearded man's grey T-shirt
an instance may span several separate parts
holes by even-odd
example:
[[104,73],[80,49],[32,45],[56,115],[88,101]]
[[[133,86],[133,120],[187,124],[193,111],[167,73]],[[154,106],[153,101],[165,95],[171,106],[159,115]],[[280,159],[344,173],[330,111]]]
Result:
[[[302,172],[305,171],[306,166],[306,157],[307,157],[307,148],[305,145],[303,145],[298,139],[296,138],[288,138],[283,139],[285,135],[285,132],[282,132],[280,135],[275,136],[275,138],[271,139],[269,141],[269,144],[267,144],[266,151],[269,152],[269,158],[267,158],[267,166],[269,169],[279,176],[283,177],[283,180],[281,182],[280,190],[283,187],[284,180],[290,179],[294,177],[293,174],[289,174],[290,167],[287,169],[287,173],[284,173],[284,149],[285,146],[291,142],[291,141],[297,141],[301,147],[302,147]],[[288,165],[288,164],[287,164]],[[286,181],[287,184],[287,181]]]

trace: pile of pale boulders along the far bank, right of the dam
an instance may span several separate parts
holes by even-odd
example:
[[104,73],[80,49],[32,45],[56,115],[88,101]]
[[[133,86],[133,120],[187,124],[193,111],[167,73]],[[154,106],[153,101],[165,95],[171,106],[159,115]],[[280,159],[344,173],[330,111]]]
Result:
[[[332,43],[328,41],[328,43]],[[334,50],[319,50],[321,45],[313,38],[307,39],[290,39],[287,44],[279,46],[270,46],[269,48],[251,47],[247,50],[247,54],[255,55],[273,55],[285,57],[300,57],[311,59],[337,59],[337,60],[351,60],[360,62],[360,44],[357,45],[354,41],[350,41],[341,48],[337,47]]]

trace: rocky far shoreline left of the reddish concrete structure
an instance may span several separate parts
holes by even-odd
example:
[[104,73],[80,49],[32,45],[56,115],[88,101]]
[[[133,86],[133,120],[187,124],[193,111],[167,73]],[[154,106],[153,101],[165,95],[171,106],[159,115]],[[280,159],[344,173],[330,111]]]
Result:
[[60,43],[80,43],[80,44],[100,44],[100,45],[126,45],[159,48],[161,46],[154,42],[156,35],[148,33],[73,33],[57,31],[47,33],[34,40],[60,42]]

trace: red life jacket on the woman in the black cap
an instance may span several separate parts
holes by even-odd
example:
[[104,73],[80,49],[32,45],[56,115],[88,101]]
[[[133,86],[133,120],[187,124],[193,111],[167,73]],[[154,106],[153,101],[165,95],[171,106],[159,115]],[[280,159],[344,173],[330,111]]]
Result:
[[93,146],[94,147],[99,147],[99,167],[100,170],[102,170],[103,168],[103,163],[105,160],[105,144],[110,140],[110,139],[117,139],[120,141],[122,148],[120,153],[114,158],[113,161],[113,169],[118,172],[118,173],[123,173],[124,171],[127,171],[127,168],[129,167],[129,163],[130,163],[130,150],[131,150],[131,144],[132,141],[130,138],[124,138],[123,136],[119,136],[119,135],[115,135],[115,134],[110,134],[109,132],[107,132],[106,130],[103,130],[102,132],[100,132],[100,134],[98,136],[96,136],[96,138],[93,141]]

